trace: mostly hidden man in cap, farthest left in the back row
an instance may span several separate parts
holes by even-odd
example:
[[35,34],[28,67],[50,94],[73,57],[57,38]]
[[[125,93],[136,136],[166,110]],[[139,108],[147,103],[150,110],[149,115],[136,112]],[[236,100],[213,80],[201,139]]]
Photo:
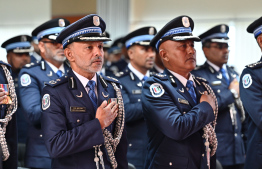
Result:
[[6,40],[2,44],[2,48],[6,49],[7,52],[7,61],[11,65],[12,69],[12,77],[15,84],[15,90],[17,93],[18,99],[18,108],[16,111],[17,116],[17,129],[18,129],[18,166],[24,166],[24,153],[25,153],[25,142],[27,137],[27,128],[28,124],[25,119],[21,104],[20,97],[18,91],[18,74],[22,67],[28,63],[30,63],[30,55],[29,52],[32,51],[30,42],[31,36],[28,35],[19,35],[12,37]]

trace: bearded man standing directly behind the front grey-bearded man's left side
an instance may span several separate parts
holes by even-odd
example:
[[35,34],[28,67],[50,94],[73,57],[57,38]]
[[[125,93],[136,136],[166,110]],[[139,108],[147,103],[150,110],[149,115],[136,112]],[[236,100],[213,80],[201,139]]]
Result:
[[57,35],[69,25],[63,18],[49,20],[35,28],[32,36],[37,36],[41,51],[40,62],[26,65],[19,73],[21,105],[29,121],[26,142],[25,166],[30,168],[51,168],[51,159],[44,144],[40,122],[41,94],[46,83],[65,75],[69,67],[61,43],[55,41]]

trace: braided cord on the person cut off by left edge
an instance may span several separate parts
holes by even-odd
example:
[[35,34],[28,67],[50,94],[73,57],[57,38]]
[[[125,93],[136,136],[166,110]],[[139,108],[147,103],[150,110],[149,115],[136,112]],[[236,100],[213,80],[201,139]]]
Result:
[[5,139],[6,126],[8,122],[12,119],[12,115],[15,113],[17,109],[17,97],[15,93],[14,81],[13,81],[13,78],[9,70],[7,69],[5,65],[1,65],[1,66],[5,72],[5,76],[6,76],[8,87],[9,87],[9,93],[12,99],[12,103],[7,105],[7,112],[6,112],[5,118],[0,119],[0,122],[3,124],[3,125],[0,125],[0,143],[1,143],[1,148],[3,151],[3,161],[6,161],[10,156],[10,153],[7,147],[7,143],[6,143],[6,139]]

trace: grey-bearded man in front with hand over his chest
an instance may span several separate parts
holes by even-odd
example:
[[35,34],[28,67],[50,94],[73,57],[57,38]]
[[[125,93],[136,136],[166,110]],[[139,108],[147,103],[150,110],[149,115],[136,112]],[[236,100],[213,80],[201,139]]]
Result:
[[127,169],[120,84],[97,74],[104,61],[103,41],[110,40],[105,29],[103,19],[91,14],[57,38],[72,69],[43,91],[42,128],[52,168]]

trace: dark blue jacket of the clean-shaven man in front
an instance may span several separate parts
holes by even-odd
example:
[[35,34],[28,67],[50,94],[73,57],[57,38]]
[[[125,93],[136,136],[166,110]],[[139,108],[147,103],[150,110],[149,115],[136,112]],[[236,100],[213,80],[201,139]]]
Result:
[[[206,91],[204,80],[195,82],[197,104],[167,69],[145,82],[142,105],[149,138],[145,169],[208,168],[202,128],[215,116],[209,103],[199,103],[200,92]],[[215,167],[214,157],[211,169]]]

